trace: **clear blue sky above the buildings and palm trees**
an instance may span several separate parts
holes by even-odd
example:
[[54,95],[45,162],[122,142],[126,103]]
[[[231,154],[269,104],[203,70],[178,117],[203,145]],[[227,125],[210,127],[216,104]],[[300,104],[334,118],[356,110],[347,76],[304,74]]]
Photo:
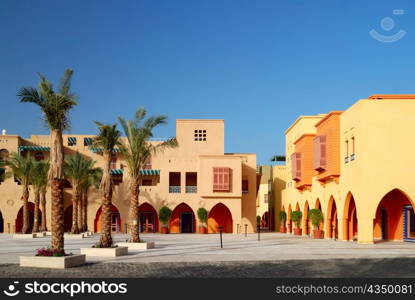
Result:
[[[407,34],[381,43],[371,29]],[[71,132],[95,133],[92,120],[139,106],[169,116],[158,137],[173,136],[177,118],[223,118],[226,151],[259,163],[284,153],[301,114],[415,93],[414,1],[2,0],[0,38],[0,128],[22,136],[47,131],[17,90],[67,67],[80,96]]]

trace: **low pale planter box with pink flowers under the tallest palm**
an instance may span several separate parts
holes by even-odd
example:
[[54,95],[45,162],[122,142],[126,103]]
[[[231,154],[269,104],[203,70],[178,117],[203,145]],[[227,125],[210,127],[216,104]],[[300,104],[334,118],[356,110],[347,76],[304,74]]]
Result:
[[65,269],[85,264],[85,255],[20,256],[21,267]]

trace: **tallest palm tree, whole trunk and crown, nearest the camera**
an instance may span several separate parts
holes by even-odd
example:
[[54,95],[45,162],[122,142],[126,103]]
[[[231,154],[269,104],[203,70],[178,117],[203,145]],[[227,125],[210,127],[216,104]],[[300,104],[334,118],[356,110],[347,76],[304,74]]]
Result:
[[64,183],[64,151],[62,131],[69,129],[69,111],[76,106],[76,95],[71,92],[73,71],[65,70],[57,92],[52,83],[39,74],[38,89],[24,87],[19,90],[17,97],[20,102],[30,102],[38,105],[43,113],[43,119],[50,130],[51,150],[49,181],[52,190],[52,242],[54,250],[64,250],[64,210],[63,210],[63,183]]

